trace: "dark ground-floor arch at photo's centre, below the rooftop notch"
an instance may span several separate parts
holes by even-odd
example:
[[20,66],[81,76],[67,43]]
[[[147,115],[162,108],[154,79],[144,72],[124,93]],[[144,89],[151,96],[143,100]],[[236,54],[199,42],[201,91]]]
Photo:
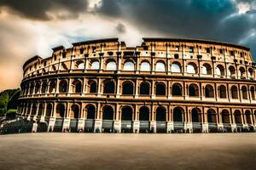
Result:
[[132,133],[132,114],[131,106],[124,106],[121,111],[121,131],[122,133]]

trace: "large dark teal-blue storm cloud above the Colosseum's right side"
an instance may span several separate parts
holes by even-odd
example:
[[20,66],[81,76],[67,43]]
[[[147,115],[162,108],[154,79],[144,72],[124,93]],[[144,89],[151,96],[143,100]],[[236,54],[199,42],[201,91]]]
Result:
[[[118,12],[113,12],[113,7]],[[255,37],[248,38],[247,34],[256,28],[256,15],[253,10],[238,14],[237,2],[232,0],[102,0],[96,13],[127,20],[141,30],[166,36],[242,42],[255,48]],[[243,41],[245,38],[250,42]],[[256,53],[253,55],[256,57]]]

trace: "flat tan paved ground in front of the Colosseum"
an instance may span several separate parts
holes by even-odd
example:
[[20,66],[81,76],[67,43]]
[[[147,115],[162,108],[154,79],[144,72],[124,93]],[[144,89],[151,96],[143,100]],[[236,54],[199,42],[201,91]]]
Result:
[[256,169],[256,133],[3,135],[0,169]]

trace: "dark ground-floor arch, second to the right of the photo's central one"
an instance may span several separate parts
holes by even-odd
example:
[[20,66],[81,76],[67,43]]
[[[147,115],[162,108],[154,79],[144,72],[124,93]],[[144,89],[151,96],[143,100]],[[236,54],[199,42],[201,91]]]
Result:
[[166,133],[166,109],[164,107],[158,107],[156,109],[156,132]]

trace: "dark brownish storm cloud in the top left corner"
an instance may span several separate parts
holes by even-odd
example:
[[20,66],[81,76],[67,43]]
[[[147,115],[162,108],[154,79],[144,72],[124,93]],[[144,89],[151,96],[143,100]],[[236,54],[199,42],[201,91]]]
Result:
[[9,8],[15,14],[20,14],[32,20],[51,20],[49,13],[65,11],[64,15],[56,14],[57,18],[77,18],[87,8],[87,0],[1,0],[0,10]]

